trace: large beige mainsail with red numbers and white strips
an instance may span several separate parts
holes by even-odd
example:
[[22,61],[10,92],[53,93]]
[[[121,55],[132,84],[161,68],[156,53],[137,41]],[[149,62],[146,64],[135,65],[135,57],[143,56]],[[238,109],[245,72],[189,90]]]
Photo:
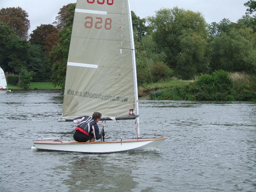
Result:
[[95,111],[102,117],[135,116],[128,3],[77,0],[63,117],[92,116]]

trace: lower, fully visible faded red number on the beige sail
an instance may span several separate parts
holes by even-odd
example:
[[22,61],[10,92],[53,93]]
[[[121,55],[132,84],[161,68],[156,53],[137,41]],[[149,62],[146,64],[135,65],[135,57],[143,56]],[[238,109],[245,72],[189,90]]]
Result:
[[[90,16],[87,16],[87,17],[85,17],[85,19],[86,19],[86,22],[84,23],[84,27],[89,28],[89,29],[92,28],[93,27],[93,18]],[[94,24],[94,27],[96,29],[101,29],[102,23],[103,23],[102,17],[96,17],[96,22]],[[112,24],[112,19],[110,19],[110,18],[105,19],[104,28],[106,30],[110,30],[112,27],[111,24]]]

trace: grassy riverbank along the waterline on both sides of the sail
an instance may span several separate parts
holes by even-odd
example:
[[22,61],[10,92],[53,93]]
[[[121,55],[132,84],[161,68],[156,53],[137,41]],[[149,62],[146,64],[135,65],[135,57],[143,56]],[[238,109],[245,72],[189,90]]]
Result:
[[[222,92],[212,92],[208,95],[217,95],[215,98],[211,97],[204,98],[202,93],[191,93],[189,90],[194,84],[194,80],[184,81],[184,80],[169,80],[167,82],[158,82],[154,84],[143,84],[138,87],[138,96],[141,99],[147,98],[151,100],[212,100],[212,101],[255,101],[256,92],[254,92],[254,86],[249,86],[250,84],[242,84],[243,86],[238,86],[239,84],[233,84],[233,88],[230,92],[227,92],[225,97],[217,97],[223,94]],[[28,90],[25,90],[17,85],[8,84],[8,88],[11,91],[36,91],[36,90],[59,90],[63,91],[59,86],[54,87],[51,82],[32,82]],[[237,88],[238,87],[238,88]],[[242,88],[241,88],[242,87]],[[249,87],[249,88],[248,88]],[[199,87],[200,88],[200,87]],[[205,94],[205,93],[204,93]],[[201,96],[201,97],[199,97]]]

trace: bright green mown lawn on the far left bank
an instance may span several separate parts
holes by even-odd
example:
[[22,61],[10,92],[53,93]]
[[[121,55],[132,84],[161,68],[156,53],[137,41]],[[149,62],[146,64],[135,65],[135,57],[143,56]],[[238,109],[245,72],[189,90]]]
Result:
[[[7,86],[11,90],[24,90],[20,86],[17,85],[11,85],[7,83]],[[53,89],[60,89],[59,86],[54,87],[52,83],[49,82],[32,82],[29,86],[30,90],[53,90]]]

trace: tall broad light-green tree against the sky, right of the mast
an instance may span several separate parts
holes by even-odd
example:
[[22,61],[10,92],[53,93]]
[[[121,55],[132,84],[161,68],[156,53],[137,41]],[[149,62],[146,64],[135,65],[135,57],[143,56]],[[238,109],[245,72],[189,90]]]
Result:
[[[160,9],[156,11],[156,16],[148,17],[148,21],[159,52],[165,53],[166,63],[177,76],[188,79],[201,71],[207,72],[208,30],[201,13],[178,7]],[[187,50],[189,45],[186,46],[186,43],[196,46]],[[188,52],[193,55],[187,55]],[[195,68],[197,64],[200,68]]]

